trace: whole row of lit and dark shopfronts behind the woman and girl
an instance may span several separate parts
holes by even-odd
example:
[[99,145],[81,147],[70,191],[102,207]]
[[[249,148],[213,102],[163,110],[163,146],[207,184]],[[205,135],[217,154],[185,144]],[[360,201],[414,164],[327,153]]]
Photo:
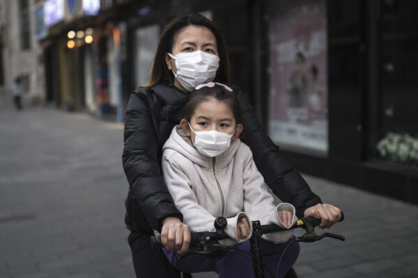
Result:
[[[12,2],[17,13],[22,1]],[[130,94],[148,79],[164,25],[203,13],[226,38],[232,83],[298,170],[418,203],[417,1],[33,4],[31,44],[40,47],[45,101],[122,122]],[[20,59],[3,68],[28,63]],[[27,68],[36,72],[36,63]]]

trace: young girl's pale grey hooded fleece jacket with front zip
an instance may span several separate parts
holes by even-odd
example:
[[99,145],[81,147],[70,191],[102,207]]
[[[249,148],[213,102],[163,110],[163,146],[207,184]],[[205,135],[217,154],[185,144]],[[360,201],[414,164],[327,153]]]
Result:
[[[210,158],[194,147],[180,126],[174,126],[165,143],[162,172],[174,204],[183,213],[183,222],[192,231],[215,231],[218,216],[228,221],[226,234],[238,241],[238,218],[260,220],[261,224],[285,227],[277,211],[290,211],[295,223],[295,208],[288,203],[275,206],[273,197],[252,158],[251,150],[240,139],[231,142],[226,151]],[[252,234],[247,236],[247,239]],[[284,243],[293,231],[268,234],[265,239]],[[242,241],[242,240],[240,240]],[[233,242],[226,240],[224,244]]]

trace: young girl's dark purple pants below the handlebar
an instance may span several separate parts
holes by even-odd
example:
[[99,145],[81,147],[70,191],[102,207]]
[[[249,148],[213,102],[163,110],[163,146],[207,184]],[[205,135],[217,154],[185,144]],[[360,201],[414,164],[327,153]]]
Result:
[[[261,238],[264,272],[267,272],[265,268],[269,268],[274,276],[276,275],[277,263],[279,263],[281,253],[283,253],[286,246],[294,239],[295,237],[293,236],[293,238],[288,240],[287,243],[274,244]],[[231,247],[249,252],[249,240],[243,243],[235,243],[235,245]],[[163,251],[170,263],[182,272],[196,273],[215,271],[219,273],[220,278],[254,277],[254,270],[251,262],[236,252],[228,252],[215,258],[201,254],[190,254],[179,261],[179,255],[176,251],[171,252],[166,248],[163,248]],[[299,251],[299,243],[293,243],[293,245],[288,248],[286,254],[283,256],[283,259],[281,259],[278,277],[284,277],[284,275],[286,275],[286,272],[288,272],[291,266],[295,263],[297,256],[299,255]],[[266,275],[268,274],[266,273]]]

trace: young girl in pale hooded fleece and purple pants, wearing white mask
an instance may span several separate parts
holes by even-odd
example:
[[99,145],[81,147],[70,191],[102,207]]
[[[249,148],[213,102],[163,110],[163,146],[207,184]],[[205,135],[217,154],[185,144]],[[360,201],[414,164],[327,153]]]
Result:
[[[183,222],[192,231],[215,231],[214,220],[223,216],[233,240],[224,242],[249,251],[251,220],[290,227],[295,223],[291,204],[273,204],[264,179],[252,159],[251,150],[240,141],[239,105],[231,88],[206,83],[196,90],[183,109],[163,147],[162,171]],[[263,236],[263,262],[276,272],[279,257],[292,231]],[[181,243],[180,243],[181,245]],[[169,261],[183,272],[217,271],[219,277],[252,277],[251,262],[238,254],[216,258],[192,254],[178,261],[178,253],[164,248]],[[295,263],[299,245],[292,245],[280,265],[283,277]]]

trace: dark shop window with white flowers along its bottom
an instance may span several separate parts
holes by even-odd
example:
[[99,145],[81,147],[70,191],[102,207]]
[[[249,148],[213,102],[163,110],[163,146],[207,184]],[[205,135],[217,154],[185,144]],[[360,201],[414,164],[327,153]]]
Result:
[[376,157],[418,166],[418,2],[380,1],[380,134]]

